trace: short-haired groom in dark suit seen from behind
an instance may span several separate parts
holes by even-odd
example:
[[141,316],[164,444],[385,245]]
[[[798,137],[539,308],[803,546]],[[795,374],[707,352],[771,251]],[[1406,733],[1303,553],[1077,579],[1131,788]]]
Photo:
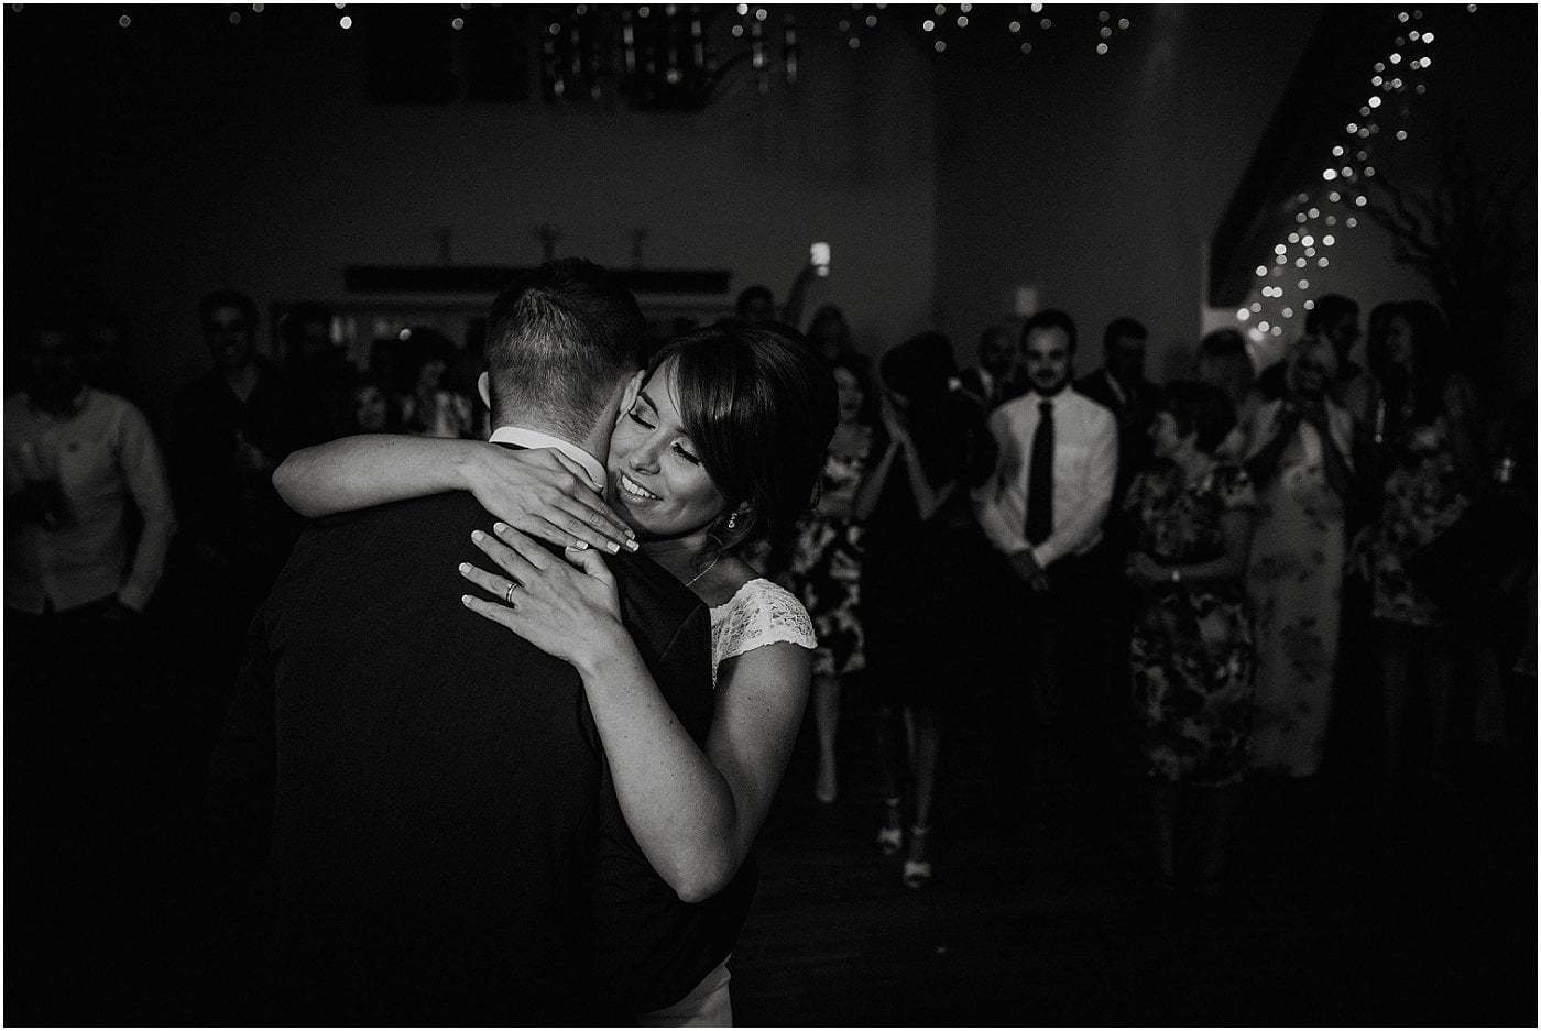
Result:
[[[643,331],[589,262],[516,282],[487,322],[493,441],[601,487]],[[683,999],[737,937],[752,871],[681,903],[626,829],[576,672],[459,604],[492,521],[464,492],[316,521],[251,624],[211,814],[227,869],[265,866],[276,1022],[613,1023]],[[704,741],[706,609],[646,558],[612,567]]]

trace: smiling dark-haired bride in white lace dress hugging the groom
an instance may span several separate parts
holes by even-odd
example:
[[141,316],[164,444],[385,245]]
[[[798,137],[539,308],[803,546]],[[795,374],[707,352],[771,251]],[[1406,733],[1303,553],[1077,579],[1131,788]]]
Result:
[[[570,549],[561,563],[496,524],[476,546],[499,573],[461,567],[488,595],[513,601],[465,595],[468,609],[578,669],[627,828],[686,902],[709,898],[737,874],[797,740],[812,624],[797,598],[757,576],[735,549],[795,524],[834,425],[828,364],[781,330],[746,324],[664,345],[621,399],[606,495],[621,522],[606,513],[601,524],[613,538],[590,542],[619,542],[629,527],[643,555],[709,606],[717,692],[704,747],[673,717],[621,624],[599,547]],[[582,512],[599,510],[592,496],[578,498],[586,487],[573,476],[552,476],[552,468],[570,472],[570,459],[373,435],[308,448],[280,479],[285,499],[307,515],[458,487],[509,522],[529,526],[535,513],[572,526],[569,505],[542,501],[553,485]],[[643,1022],[732,1023],[726,960],[690,996]]]

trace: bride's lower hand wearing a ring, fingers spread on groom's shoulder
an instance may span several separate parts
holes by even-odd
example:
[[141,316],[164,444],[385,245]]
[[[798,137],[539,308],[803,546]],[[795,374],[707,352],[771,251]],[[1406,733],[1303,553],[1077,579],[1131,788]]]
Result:
[[461,576],[498,601],[461,595],[467,609],[572,663],[579,672],[630,644],[621,626],[615,575],[598,552],[569,550],[562,561],[507,524],[495,524],[493,533],[476,530],[472,541],[504,575],[461,563]]

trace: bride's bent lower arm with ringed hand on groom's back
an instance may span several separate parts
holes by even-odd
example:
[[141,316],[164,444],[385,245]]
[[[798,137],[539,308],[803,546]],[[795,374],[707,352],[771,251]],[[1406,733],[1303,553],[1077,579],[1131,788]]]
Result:
[[[515,607],[465,604],[572,663],[604,743],[626,824],[684,902],[721,891],[749,854],[786,771],[807,701],[812,653],[778,643],[723,663],[712,727],[700,749],[621,626],[615,578],[593,552],[569,567],[518,533],[478,541],[519,581]],[[461,572],[495,596],[507,576]],[[584,575],[587,573],[587,575]]]

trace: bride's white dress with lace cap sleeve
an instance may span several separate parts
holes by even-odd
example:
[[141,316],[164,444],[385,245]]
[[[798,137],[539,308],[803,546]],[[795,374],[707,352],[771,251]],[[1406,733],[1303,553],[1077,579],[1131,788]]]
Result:
[[[712,607],[712,683],[727,660],[780,641],[812,650],[817,647],[814,621],[791,592],[769,579],[750,579],[726,604]],[[734,1008],[727,982],[724,959],[695,991],[638,1023],[644,1028],[730,1028]]]

